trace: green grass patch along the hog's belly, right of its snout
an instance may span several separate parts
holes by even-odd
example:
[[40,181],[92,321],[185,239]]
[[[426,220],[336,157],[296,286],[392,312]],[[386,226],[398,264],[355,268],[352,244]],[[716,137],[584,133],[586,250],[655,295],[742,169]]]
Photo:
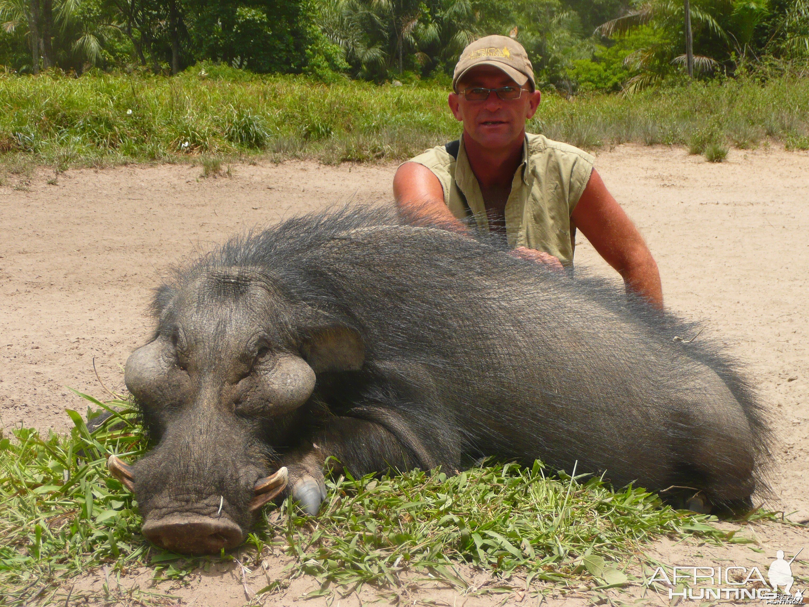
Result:
[[[418,571],[467,587],[459,563],[491,571],[506,588],[622,585],[629,558],[663,534],[726,535],[714,517],[663,507],[636,487],[613,492],[600,478],[549,476],[536,462],[487,465],[447,477],[414,471],[339,478],[317,520],[287,505],[284,534],[298,573],[328,584],[399,586]],[[595,563],[599,563],[595,567]],[[513,576],[519,579],[509,581]]]

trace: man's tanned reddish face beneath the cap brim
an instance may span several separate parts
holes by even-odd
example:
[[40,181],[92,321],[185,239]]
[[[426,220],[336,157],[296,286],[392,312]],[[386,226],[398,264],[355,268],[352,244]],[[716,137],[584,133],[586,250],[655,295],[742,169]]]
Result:
[[[528,83],[523,85],[530,87]],[[480,66],[469,70],[458,83],[458,90],[473,87],[517,87],[517,83],[498,68]],[[519,99],[501,100],[494,93],[484,101],[469,101],[463,94],[451,93],[450,109],[464,131],[482,147],[497,150],[511,146],[523,137],[525,121],[534,115],[540,105],[539,91],[523,91]]]

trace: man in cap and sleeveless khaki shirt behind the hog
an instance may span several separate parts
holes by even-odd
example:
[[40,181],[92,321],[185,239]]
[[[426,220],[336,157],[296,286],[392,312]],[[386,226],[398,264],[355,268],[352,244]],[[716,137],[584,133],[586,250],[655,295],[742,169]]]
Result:
[[593,157],[543,135],[526,134],[540,104],[523,46],[506,36],[472,42],[455,66],[448,102],[464,133],[396,171],[400,210],[467,231],[504,234],[511,253],[556,268],[571,266],[576,230],[612,265],[628,289],[663,308],[657,264],[642,236],[607,191]]

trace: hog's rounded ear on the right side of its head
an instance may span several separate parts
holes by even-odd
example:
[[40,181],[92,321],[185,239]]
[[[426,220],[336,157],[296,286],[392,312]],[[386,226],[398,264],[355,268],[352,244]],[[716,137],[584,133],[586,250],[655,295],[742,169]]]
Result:
[[365,344],[360,334],[348,327],[311,329],[301,354],[316,373],[359,371],[365,362]]

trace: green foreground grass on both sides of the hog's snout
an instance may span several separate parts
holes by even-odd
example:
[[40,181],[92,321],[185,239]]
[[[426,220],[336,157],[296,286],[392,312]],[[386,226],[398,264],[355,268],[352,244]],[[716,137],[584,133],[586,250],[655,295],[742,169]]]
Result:
[[[137,504],[105,467],[109,453],[133,461],[145,451],[137,410],[128,401],[80,396],[119,413],[91,433],[68,411],[70,435],[42,437],[23,427],[0,441],[0,605],[61,604],[66,580],[94,567],[121,575],[148,565],[155,578],[176,579],[234,558],[184,558],[144,541]],[[487,465],[449,478],[438,470],[336,478],[328,489],[315,518],[291,500],[265,509],[247,547],[235,553],[259,562],[274,545],[294,556],[264,592],[303,574],[319,579],[315,594],[362,584],[396,588],[405,575],[467,588],[461,563],[496,575],[495,590],[532,581],[598,590],[639,583],[627,567],[646,564],[643,545],[661,535],[751,541],[720,531],[713,517],[662,507],[646,490],[612,492],[598,478],[549,476],[539,463]],[[143,593],[135,598],[149,602]]]

